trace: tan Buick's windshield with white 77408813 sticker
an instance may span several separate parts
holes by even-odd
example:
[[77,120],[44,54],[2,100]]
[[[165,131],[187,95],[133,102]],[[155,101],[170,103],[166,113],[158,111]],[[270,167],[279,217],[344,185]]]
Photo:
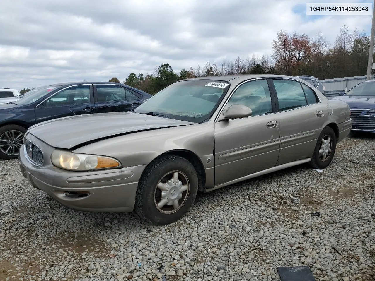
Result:
[[201,123],[210,118],[229,83],[215,80],[179,81],[139,105],[137,113]]

